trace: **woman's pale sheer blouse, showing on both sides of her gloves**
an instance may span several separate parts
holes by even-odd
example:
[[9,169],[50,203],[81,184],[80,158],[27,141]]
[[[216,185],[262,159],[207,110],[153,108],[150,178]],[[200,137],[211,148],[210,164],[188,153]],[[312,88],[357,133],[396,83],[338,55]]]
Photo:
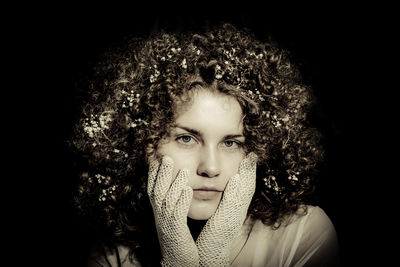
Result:
[[[248,218],[232,243],[231,266],[339,266],[331,220],[321,208],[307,208],[307,214],[290,216],[278,229]],[[120,246],[107,255],[92,255],[88,266],[141,266],[137,259],[129,260],[128,252]]]

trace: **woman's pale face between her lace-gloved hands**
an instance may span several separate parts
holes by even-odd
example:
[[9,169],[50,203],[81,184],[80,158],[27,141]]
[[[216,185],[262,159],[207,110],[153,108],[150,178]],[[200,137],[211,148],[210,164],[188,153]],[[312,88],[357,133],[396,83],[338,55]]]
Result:
[[189,170],[190,218],[206,220],[214,214],[245,156],[244,141],[242,109],[232,96],[199,89],[180,109],[158,153],[173,159],[174,178],[180,169]]

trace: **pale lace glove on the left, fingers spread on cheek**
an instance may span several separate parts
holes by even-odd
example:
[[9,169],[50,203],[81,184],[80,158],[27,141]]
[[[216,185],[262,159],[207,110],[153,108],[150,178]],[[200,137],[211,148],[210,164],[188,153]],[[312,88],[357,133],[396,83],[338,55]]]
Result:
[[172,173],[173,161],[168,156],[163,157],[161,165],[158,161],[150,164],[147,193],[161,247],[161,265],[199,266],[197,247],[187,226],[193,190],[186,185],[186,170],[180,170],[175,181]]

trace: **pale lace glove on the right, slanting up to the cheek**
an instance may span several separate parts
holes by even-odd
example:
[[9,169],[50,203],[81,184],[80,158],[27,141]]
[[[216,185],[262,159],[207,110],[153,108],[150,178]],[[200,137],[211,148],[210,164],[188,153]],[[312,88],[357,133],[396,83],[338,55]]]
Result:
[[257,156],[250,153],[240,163],[239,174],[230,178],[218,209],[196,241],[200,266],[229,266],[232,241],[240,233],[255,191],[256,167]]

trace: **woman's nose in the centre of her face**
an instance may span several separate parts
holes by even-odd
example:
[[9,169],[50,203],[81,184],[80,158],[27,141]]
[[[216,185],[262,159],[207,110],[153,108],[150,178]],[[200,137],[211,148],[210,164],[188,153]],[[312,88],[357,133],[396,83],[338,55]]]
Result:
[[214,178],[220,175],[218,152],[212,147],[203,147],[199,155],[197,175]]

